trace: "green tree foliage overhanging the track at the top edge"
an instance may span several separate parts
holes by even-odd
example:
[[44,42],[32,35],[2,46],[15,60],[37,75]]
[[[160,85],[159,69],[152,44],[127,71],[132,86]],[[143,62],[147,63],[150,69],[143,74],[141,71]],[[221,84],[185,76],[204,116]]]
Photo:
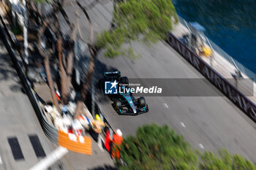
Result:
[[97,36],[97,47],[105,47],[105,56],[134,55],[131,48],[121,45],[132,40],[157,42],[165,39],[167,31],[178,22],[176,10],[170,0],[128,0],[116,4],[113,12],[114,29]]

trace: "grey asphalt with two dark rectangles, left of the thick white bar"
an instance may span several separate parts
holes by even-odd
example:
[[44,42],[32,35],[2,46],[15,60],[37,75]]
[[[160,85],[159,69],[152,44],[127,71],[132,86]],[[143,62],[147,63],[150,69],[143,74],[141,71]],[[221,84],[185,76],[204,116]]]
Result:
[[[7,50],[0,41],[0,170],[29,169],[56,148],[47,139],[40,127],[28,96],[22,92],[22,85]],[[29,136],[38,136],[37,148],[33,148]],[[17,138],[18,142],[11,145],[9,139]],[[13,143],[13,142],[12,142]],[[15,150],[17,143],[20,152]],[[41,156],[36,154],[42,145]],[[12,152],[13,150],[13,152]],[[15,159],[15,158],[20,159]],[[57,169],[58,163],[52,169]],[[61,163],[62,164],[62,163]]]

